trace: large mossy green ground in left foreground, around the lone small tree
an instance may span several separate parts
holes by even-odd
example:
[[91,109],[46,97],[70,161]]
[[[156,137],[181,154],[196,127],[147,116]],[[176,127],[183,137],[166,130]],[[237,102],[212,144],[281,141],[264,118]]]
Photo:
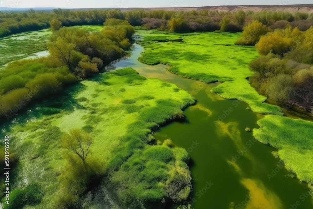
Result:
[[58,176],[65,150],[60,140],[70,129],[79,128],[94,138],[90,159],[109,171],[126,205],[131,202],[138,208],[141,201],[186,199],[191,189],[187,151],[171,143],[148,144],[153,141],[151,128],[181,118],[181,109],[194,102],[187,91],[159,79],[146,79],[132,68],[82,81],[38,104],[11,125],[12,149],[19,159],[19,175],[12,189],[40,185],[41,203],[25,208],[53,208],[62,195]]

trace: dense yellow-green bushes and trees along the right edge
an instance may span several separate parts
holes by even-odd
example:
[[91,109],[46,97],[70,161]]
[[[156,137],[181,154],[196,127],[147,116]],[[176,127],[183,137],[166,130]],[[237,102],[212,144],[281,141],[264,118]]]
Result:
[[252,86],[270,99],[313,109],[313,27],[302,32],[290,24],[274,31],[255,21],[237,44],[256,44],[262,55],[250,63]]

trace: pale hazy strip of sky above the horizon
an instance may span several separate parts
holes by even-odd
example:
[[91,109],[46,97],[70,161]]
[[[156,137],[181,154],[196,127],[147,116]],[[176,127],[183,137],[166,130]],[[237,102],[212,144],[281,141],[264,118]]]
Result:
[[312,4],[312,0],[0,0],[0,7],[200,7],[216,5]]

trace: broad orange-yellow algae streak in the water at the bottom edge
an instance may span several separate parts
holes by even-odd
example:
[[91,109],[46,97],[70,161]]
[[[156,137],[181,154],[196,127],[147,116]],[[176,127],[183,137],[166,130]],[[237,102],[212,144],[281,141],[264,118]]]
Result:
[[267,190],[263,183],[252,179],[243,179],[241,183],[249,190],[250,200],[246,209],[281,209],[283,205],[279,197]]

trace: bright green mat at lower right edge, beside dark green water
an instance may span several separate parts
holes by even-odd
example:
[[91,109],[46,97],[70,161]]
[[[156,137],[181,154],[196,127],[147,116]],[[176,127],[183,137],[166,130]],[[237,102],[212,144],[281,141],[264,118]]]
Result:
[[267,115],[258,121],[261,128],[253,130],[253,136],[264,144],[278,149],[285,167],[292,170],[301,181],[313,183],[313,123]]

